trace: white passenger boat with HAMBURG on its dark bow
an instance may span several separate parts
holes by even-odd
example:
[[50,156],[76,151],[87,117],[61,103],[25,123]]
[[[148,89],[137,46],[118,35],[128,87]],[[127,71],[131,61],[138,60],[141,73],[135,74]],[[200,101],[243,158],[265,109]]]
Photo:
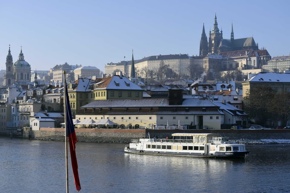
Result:
[[127,153],[167,154],[198,157],[246,157],[246,145],[228,141],[215,133],[173,133],[170,139],[132,139]]

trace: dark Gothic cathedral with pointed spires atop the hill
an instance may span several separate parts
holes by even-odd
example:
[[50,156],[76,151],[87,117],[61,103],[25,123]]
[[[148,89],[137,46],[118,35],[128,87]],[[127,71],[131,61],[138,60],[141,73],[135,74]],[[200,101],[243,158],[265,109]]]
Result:
[[203,24],[201,40],[199,45],[199,56],[208,54],[221,54],[221,52],[253,49],[258,50],[258,43],[255,43],[253,37],[234,39],[234,30],[230,33],[230,39],[223,39],[223,31],[218,29],[217,15],[214,17],[214,27],[209,30],[209,36],[205,34],[205,25]]

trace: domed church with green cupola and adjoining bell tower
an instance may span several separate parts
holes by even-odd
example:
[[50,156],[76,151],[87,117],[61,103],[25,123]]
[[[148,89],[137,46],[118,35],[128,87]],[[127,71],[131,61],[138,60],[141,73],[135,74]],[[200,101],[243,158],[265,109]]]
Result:
[[18,60],[13,64],[13,59],[10,51],[6,57],[6,72],[4,74],[4,85],[27,85],[31,82],[31,67],[28,62],[24,60],[24,55],[21,51]]

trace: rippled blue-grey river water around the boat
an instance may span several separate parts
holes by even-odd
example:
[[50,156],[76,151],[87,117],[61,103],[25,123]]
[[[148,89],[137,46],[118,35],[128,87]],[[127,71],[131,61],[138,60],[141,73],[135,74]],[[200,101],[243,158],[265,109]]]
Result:
[[[85,193],[290,192],[290,144],[247,145],[244,160],[124,153],[125,144],[76,144]],[[69,155],[69,192],[77,192]],[[1,192],[66,192],[65,144],[0,137]]]

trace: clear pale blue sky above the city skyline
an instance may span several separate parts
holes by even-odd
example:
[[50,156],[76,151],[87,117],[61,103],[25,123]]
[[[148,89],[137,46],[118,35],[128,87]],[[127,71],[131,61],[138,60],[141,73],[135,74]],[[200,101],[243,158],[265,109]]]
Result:
[[208,36],[214,13],[223,37],[254,37],[273,56],[290,53],[288,1],[1,1],[0,69],[8,45],[31,69],[57,64],[96,66],[150,55],[199,55],[202,24]]

